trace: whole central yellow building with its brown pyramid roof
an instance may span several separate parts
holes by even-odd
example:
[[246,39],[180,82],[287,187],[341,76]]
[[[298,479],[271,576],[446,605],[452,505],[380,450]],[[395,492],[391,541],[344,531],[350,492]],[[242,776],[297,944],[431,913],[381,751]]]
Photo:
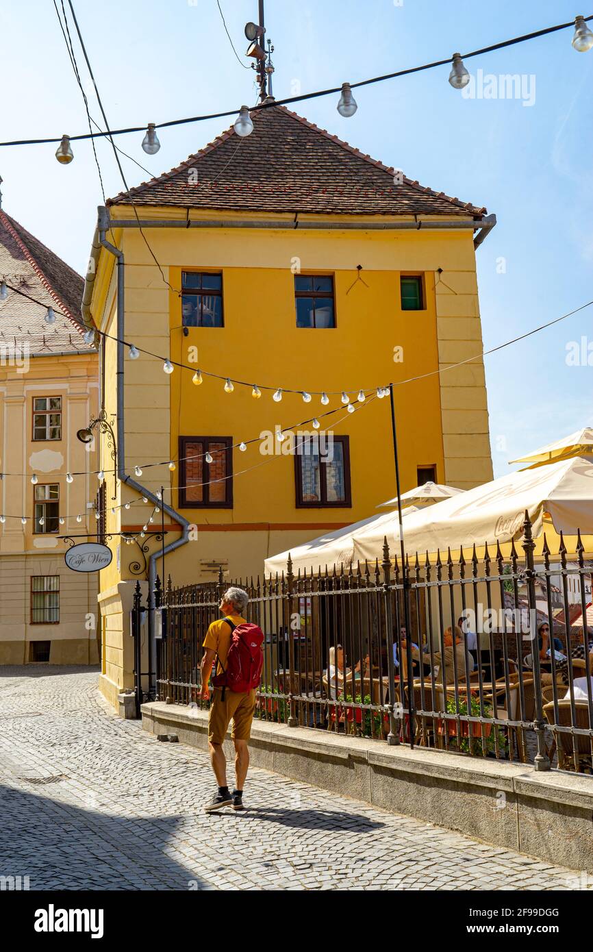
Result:
[[[164,508],[176,585],[221,565],[256,574],[268,554],[374,514],[395,491],[389,400],[376,396],[391,382],[403,489],[492,477],[482,361],[438,371],[482,351],[475,251],[494,216],[283,107],[253,123],[131,189],[143,233],[127,194],[100,209],[83,315],[110,335],[122,483],[108,528],[135,538],[114,543],[101,573],[113,703],[132,684],[128,610],[145,555],[145,576],[162,573],[149,532]],[[247,386],[227,392],[227,377]]]

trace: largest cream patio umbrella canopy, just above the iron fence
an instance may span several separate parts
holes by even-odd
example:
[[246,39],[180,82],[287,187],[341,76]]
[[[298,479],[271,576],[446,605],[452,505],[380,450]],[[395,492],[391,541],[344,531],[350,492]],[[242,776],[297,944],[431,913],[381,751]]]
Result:
[[[565,537],[570,537],[576,536],[578,529],[583,536],[585,552],[591,552],[593,463],[587,459],[574,458],[537,469],[519,470],[484,486],[467,489],[436,506],[426,506],[412,512],[405,517],[405,551],[412,559],[416,552],[424,559],[426,552],[436,553],[440,549],[446,553],[447,548],[450,548],[451,554],[457,558],[462,546],[467,555],[476,545],[478,557],[482,558],[484,543],[487,543],[491,556],[496,554],[499,544],[506,557],[510,544],[515,542],[521,556],[520,540],[525,511],[532,524],[536,557],[542,553],[544,531],[553,554],[558,552],[560,531]],[[353,526],[349,528],[352,530]],[[341,531],[347,534],[347,530]],[[335,564],[342,562],[348,565],[350,561],[374,562],[377,558],[381,559],[385,537],[390,551],[399,558],[399,545],[396,545],[399,543],[397,512],[367,520],[365,526],[351,531],[346,552],[336,547],[335,554],[340,558]],[[324,538],[321,537],[322,540]],[[325,568],[326,564],[334,564],[327,559],[327,550],[323,553],[323,560],[317,558],[318,542],[313,540],[308,545],[300,545],[292,550],[294,570],[299,567],[317,570]],[[267,559],[266,572],[286,569],[287,557],[288,552],[282,552]]]

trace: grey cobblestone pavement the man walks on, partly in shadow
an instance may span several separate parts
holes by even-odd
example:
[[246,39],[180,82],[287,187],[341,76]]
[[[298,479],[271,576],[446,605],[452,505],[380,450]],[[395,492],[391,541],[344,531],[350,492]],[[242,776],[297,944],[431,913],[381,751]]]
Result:
[[0,875],[30,889],[540,890],[574,875],[261,769],[245,813],[208,816],[206,755],[116,717],[96,669],[0,668],[0,783]]

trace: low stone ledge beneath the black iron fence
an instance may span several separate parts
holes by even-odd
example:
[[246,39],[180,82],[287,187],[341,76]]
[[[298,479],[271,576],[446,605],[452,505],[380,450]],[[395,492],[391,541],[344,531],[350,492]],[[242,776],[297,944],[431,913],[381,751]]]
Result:
[[[154,702],[142,715],[144,730],[207,749],[208,711]],[[593,873],[593,778],[266,721],[250,746],[254,766]]]

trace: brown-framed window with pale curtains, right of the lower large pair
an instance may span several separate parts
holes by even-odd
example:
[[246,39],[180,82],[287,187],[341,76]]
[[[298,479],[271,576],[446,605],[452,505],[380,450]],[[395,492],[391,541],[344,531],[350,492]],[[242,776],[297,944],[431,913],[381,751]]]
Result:
[[298,447],[294,462],[297,506],[352,505],[347,436],[313,436]]

